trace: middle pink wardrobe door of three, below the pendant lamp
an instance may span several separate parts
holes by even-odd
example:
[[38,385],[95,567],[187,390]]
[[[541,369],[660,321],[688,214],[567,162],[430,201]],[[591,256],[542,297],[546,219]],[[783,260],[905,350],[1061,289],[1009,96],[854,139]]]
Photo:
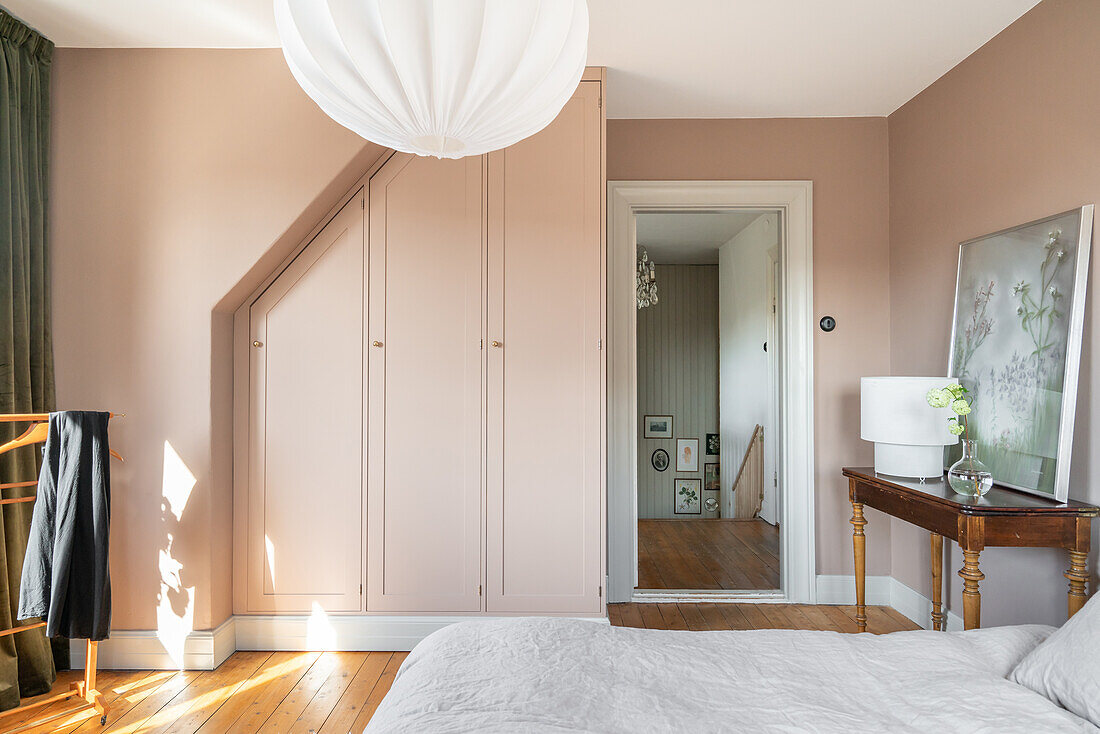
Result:
[[371,178],[370,611],[481,609],[484,165]]

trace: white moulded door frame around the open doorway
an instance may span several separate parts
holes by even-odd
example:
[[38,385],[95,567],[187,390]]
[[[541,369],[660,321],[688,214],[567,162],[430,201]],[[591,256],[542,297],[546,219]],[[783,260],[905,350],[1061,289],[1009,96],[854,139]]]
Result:
[[[816,601],[814,538],[813,182],[607,183],[607,601],[628,602],[638,574],[638,370],[635,263],[640,212],[774,209],[780,240],[780,585]],[[759,593],[746,599],[760,598]]]

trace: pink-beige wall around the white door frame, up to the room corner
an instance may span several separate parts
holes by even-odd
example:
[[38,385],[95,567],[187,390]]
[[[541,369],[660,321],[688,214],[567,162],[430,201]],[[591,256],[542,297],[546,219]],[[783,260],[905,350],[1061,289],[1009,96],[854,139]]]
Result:
[[[818,573],[851,573],[840,468],[872,460],[859,440],[859,376],[890,372],[887,150],[882,118],[607,121],[610,180],[814,183],[814,320],[837,319],[814,341]],[[889,573],[890,522],[868,519],[868,573]]]

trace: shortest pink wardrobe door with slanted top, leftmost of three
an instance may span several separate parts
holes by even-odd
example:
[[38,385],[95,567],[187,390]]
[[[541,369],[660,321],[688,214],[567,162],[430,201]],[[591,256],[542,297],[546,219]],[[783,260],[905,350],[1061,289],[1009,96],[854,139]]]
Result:
[[363,191],[252,304],[248,607],[362,609]]

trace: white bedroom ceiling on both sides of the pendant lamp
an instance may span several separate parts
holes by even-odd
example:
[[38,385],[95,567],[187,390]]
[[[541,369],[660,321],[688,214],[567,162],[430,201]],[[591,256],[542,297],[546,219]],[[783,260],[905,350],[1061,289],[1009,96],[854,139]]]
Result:
[[[613,118],[883,116],[1038,0],[588,0]],[[59,46],[277,46],[272,0],[3,0]]]

